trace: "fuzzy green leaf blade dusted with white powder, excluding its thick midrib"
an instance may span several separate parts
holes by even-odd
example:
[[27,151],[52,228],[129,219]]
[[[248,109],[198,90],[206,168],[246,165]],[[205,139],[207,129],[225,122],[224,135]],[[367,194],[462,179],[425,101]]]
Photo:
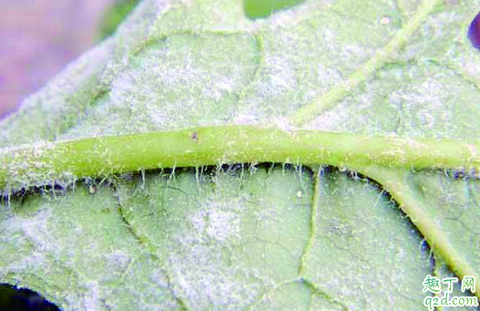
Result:
[[[466,27],[478,7],[305,1],[252,20],[237,0],[144,0],[0,122],[0,155],[217,125],[475,146],[480,54]],[[111,150],[78,163],[108,173]],[[426,275],[480,277],[470,168],[256,163],[268,155],[6,187],[0,283],[66,310],[424,310]]]

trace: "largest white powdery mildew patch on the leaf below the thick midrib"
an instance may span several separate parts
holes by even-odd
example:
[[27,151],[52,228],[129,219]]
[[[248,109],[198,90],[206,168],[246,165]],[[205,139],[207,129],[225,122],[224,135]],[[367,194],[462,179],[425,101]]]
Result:
[[187,216],[191,230],[173,237],[182,247],[168,256],[172,290],[194,310],[239,310],[254,302],[266,285],[274,284],[256,268],[227,264],[225,259],[242,241],[246,201],[246,197],[213,194],[204,199],[199,211]]

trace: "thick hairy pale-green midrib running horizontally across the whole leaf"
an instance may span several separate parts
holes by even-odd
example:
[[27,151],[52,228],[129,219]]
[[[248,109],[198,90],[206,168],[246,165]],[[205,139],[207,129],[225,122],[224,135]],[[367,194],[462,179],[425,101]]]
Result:
[[282,162],[406,169],[480,166],[479,142],[360,136],[318,130],[212,126],[0,150],[0,189],[125,171]]

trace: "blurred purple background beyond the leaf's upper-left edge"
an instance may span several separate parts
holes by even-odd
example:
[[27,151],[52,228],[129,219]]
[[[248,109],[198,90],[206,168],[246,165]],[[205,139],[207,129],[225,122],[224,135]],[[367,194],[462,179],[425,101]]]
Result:
[[0,0],[0,119],[93,46],[116,0]]

